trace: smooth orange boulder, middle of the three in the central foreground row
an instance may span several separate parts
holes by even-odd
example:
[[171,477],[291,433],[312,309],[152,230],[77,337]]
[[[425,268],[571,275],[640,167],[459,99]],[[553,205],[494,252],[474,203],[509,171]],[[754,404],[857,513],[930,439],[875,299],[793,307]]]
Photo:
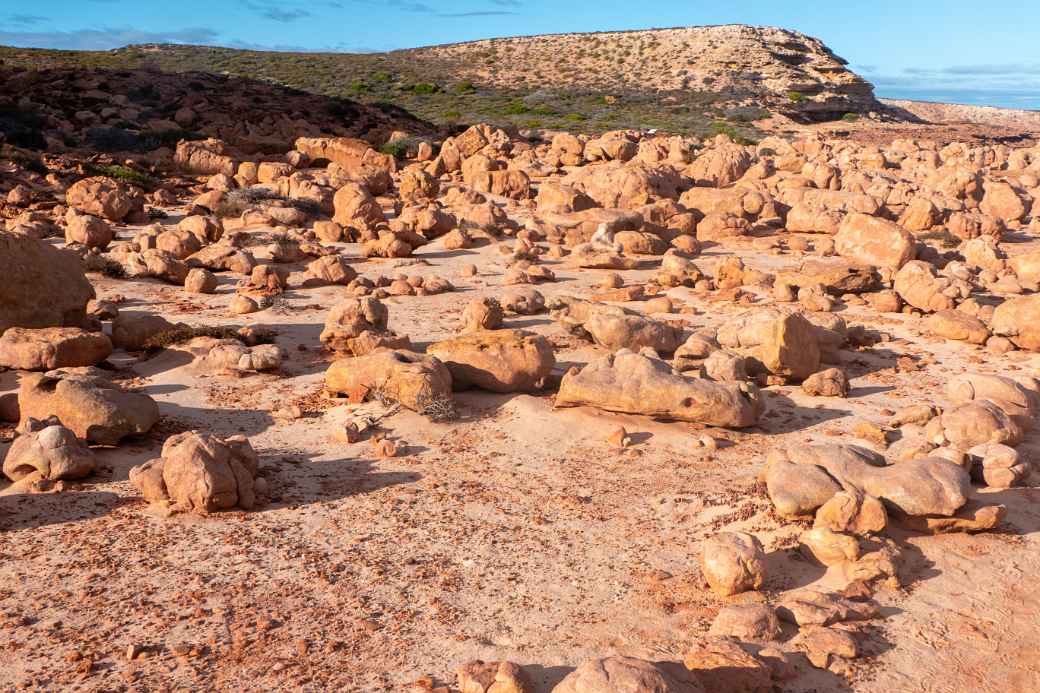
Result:
[[426,352],[448,367],[457,390],[531,391],[556,362],[549,340],[524,330],[470,332],[433,343]]

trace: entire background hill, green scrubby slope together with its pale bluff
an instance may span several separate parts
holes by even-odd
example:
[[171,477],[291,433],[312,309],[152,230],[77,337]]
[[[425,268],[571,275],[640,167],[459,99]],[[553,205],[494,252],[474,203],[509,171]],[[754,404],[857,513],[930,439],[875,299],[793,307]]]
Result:
[[33,69],[153,69],[241,76],[393,104],[441,124],[600,132],[657,128],[756,136],[753,122],[885,112],[872,85],[822,42],[751,26],[492,38],[388,53],[282,53],[203,46],[74,52],[0,48]]

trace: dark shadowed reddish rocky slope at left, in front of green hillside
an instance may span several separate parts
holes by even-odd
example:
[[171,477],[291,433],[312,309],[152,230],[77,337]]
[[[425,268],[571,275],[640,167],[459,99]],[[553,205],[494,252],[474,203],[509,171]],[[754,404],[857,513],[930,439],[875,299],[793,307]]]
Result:
[[243,153],[284,152],[295,137],[386,142],[435,128],[389,104],[369,105],[211,73],[63,67],[0,69],[0,142],[28,149],[144,151],[218,137]]

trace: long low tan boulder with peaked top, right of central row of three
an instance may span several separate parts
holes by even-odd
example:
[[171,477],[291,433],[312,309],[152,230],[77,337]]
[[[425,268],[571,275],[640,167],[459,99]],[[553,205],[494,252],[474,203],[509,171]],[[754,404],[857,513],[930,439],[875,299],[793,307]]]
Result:
[[753,385],[687,378],[665,361],[627,350],[564,376],[555,405],[729,428],[754,426],[763,409]]

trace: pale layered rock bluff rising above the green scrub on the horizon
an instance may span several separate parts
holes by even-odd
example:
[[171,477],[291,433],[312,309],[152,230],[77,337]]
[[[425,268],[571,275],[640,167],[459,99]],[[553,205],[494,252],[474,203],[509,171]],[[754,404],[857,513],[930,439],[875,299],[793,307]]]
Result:
[[477,84],[617,93],[724,93],[802,120],[881,110],[823,42],[773,27],[685,27],[492,38],[406,51]]

